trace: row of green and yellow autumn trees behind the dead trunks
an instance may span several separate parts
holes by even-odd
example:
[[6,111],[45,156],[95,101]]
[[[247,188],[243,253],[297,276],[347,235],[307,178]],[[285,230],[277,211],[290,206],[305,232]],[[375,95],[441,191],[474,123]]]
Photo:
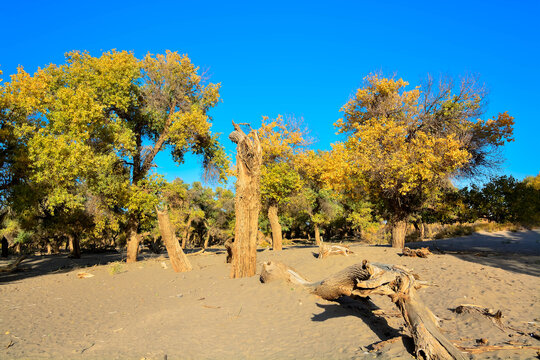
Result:
[[[538,177],[493,178],[456,190],[500,162],[513,141],[506,112],[482,119],[486,92],[474,77],[427,80],[369,75],[334,124],[341,141],[312,150],[294,118],[263,118],[261,241],[287,238],[390,240],[402,247],[409,224],[488,219],[538,223]],[[2,235],[12,247],[68,244],[74,256],[141,241],[159,251],[156,209],[168,209],[184,247],[234,237],[234,192],[169,183],[153,171],[170,151],[177,163],[200,155],[205,177],[235,174],[210,110],[220,84],[207,83],[185,55],[137,59],[111,51],[67,54],[30,75],[20,68],[0,88]]]

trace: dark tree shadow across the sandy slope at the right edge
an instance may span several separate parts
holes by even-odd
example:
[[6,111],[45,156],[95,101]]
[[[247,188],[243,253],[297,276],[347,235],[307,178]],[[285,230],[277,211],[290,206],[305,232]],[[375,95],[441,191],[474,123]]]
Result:
[[465,261],[540,276],[540,229],[478,232],[460,238],[405,245],[410,248],[427,246],[435,253],[454,255]]

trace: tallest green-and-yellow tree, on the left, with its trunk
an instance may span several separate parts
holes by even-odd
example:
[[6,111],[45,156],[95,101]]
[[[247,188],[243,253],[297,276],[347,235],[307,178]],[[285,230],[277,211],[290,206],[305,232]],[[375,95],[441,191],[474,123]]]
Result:
[[3,92],[3,119],[28,149],[30,185],[51,211],[84,208],[79,183],[109,209],[122,209],[128,262],[155,216],[163,181],[151,169],[160,151],[168,148],[179,163],[188,151],[200,154],[205,168],[225,178],[228,159],[208,116],[219,84],[204,85],[185,55],[71,52],[65,65],[34,75],[19,69]]

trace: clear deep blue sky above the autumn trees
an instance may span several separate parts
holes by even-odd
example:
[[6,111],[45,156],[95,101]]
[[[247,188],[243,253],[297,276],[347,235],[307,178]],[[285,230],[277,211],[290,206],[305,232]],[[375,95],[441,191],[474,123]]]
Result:
[[[509,111],[515,142],[500,173],[519,179],[540,171],[540,1],[3,1],[0,68],[62,63],[70,50],[137,57],[169,49],[187,53],[222,83],[214,131],[231,120],[304,118],[314,147],[339,140],[339,109],[373,71],[417,85],[427,73],[477,73],[489,94],[486,116]],[[175,166],[161,155],[168,179],[200,178],[197,159]]]

